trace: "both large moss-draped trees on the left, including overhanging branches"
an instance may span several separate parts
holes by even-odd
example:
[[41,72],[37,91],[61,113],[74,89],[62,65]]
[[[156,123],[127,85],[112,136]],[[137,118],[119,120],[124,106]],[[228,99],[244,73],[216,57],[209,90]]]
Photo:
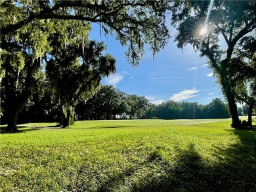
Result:
[[79,99],[89,98],[102,77],[116,71],[116,60],[103,55],[104,43],[88,39],[92,23],[127,47],[132,65],[139,64],[144,44],[156,54],[169,39],[167,1],[5,0],[0,6],[1,113],[7,132],[18,130],[20,111],[34,93],[41,99],[42,86],[51,92],[49,113],[56,107],[60,124],[68,126]]

